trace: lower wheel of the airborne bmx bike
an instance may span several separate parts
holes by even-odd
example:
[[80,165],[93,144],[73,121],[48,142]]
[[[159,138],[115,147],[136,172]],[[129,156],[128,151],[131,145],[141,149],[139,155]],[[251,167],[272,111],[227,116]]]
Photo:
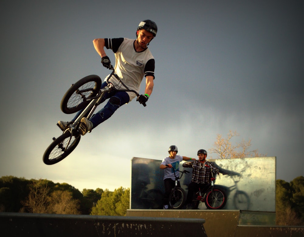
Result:
[[[71,137],[71,141],[67,146]],[[71,136],[71,132],[66,131],[64,134],[60,135],[55,139],[50,146],[46,149],[43,154],[43,162],[47,165],[53,165],[58,163],[67,157],[78,145],[80,141],[80,135]]]

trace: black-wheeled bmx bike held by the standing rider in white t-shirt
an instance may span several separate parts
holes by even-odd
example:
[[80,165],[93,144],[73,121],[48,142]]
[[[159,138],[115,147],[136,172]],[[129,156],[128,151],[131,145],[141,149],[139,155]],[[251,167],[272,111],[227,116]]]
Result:
[[[186,193],[184,189],[178,187],[178,180],[181,179],[184,173],[187,174],[190,172],[187,170],[180,171],[174,168],[172,169],[174,171],[174,176],[175,176],[175,186],[172,189],[171,193],[169,194],[169,206],[171,209],[181,209],[186,202]],[[175,171],[180,172],[181,176],[177,176],[175,174]]]

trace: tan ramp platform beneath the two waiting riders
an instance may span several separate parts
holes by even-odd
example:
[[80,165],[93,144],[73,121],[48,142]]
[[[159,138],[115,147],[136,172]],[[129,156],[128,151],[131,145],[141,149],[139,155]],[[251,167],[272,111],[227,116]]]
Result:
[[[275,213],[240,210],[127,210],[127,216],[202,218],[209,237],[303,237],[304,226],[276,226]],[[206,222],[205,222],[206,220]],[[195,236],[195,235],[178,235]]]

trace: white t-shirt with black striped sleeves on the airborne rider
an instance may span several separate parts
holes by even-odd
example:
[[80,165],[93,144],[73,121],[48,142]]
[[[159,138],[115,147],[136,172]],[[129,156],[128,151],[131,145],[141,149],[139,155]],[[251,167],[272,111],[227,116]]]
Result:
[[[139,93],[143,77],[154,77],[155,61],[148,48],[136,52],[134,41],[127,38],[105,39],[105,47],[113,50],[115,54],[116,74],[129,89]],[[127,93],[130,96],[130,101],[136,96],[133,92]]]

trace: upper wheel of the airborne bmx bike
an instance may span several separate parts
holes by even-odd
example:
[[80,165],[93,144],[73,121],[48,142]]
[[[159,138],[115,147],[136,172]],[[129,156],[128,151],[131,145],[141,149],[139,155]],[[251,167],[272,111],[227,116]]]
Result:
[[101,84],[102,81],[97,75],[86,76],[72,84],[61,100],[61,111],[73,114],[85,108],[90,98],[98,94]]

